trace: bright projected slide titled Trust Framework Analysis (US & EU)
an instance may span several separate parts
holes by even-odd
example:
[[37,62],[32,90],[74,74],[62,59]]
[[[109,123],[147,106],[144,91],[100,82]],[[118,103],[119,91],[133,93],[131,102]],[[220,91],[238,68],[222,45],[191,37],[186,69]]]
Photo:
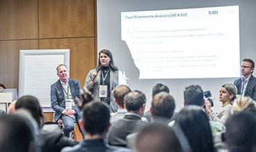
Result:
[[239,77],[239,6],[121,12],[121,39],[140,79]]

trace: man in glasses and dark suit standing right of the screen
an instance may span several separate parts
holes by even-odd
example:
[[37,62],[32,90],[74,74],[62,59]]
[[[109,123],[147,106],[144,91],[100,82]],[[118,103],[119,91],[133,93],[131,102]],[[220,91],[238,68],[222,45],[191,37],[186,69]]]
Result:
[[241,78],[235,80],[237,94],[250,96],[256,100],[256,78],[253,76],[255,63],[250,58],[244,58],[241,62]]

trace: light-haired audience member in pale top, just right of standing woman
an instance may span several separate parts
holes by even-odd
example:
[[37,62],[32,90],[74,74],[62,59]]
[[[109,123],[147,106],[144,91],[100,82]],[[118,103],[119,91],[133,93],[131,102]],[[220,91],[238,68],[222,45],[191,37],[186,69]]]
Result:
[[125,109],[124,98],[125,95],[128,94],[130,91],[131,89],[127,85],[118,85],[115,89],[113,89],[113,97],[116,104],[118,105],[118,111],[116,113],[113,113],[113,115],[111,116],[111,123],[124,118],[125,113],[127,113],[127,110]]

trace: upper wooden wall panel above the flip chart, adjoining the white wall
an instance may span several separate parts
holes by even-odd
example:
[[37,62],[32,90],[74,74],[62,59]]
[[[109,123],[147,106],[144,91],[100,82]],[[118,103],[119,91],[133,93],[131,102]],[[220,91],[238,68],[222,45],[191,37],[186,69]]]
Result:
[[39,38],[94,36],[94,0],[39,0]]

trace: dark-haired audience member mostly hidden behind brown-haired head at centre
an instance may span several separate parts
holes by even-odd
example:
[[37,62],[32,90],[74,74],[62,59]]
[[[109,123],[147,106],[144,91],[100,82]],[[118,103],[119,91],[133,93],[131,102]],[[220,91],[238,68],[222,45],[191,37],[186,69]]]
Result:
[[[156,94],[162,91],[167,92],[168,94],[170,93],[169,87],[167,87],[166,85],[163,85],[162,83],[156,83],[156,85],[154,85],[154,87],[152,88],[152,99]],[[152,122],[152,115],[150,111],[146,111],[144,114],[144,117],[147,118],[147,122]]]

